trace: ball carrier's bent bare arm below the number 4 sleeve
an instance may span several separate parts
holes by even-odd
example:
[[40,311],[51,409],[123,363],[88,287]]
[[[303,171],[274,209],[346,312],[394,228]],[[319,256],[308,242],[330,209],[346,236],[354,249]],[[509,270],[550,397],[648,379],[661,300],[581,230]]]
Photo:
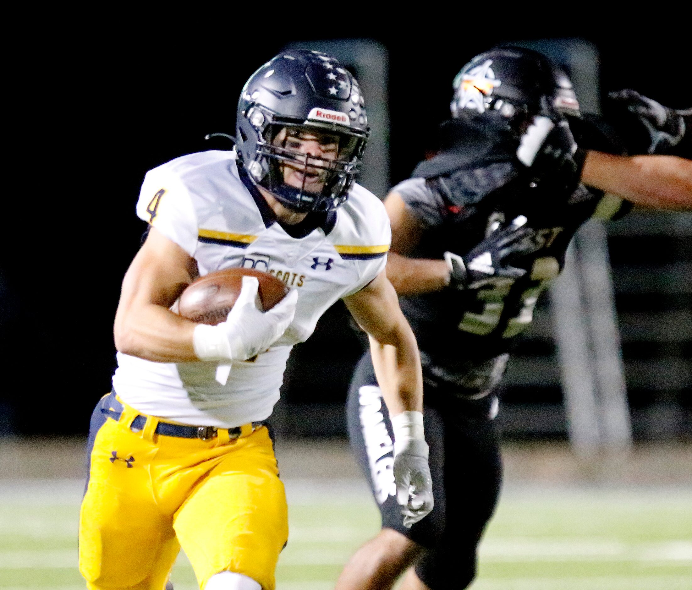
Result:
[[116,349],[157,362],[199,360],[192,346],[197,324],[169,309],[195,277],[194,259],[151,228],[122,281],[113,326]]

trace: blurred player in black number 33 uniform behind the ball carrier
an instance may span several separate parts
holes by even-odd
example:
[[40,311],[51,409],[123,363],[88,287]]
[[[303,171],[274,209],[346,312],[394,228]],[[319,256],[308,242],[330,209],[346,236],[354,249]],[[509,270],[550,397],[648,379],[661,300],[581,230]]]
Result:
[[[441,153],[385,200],[387,274],[421,351],[435,508],[411,528],[399,522],[391,474],[379,470],[391,460],[382,441],[396,432],[363,357],[349,391],[349,437],[382,531],[349,561],[338,590],[388,589],[407,570],[401,590],[471,584],[502,477],[493,388],[574,232],[592,216],[621,214],[623,199],[692,208],[692,162],[619,155],[617,134],[580,115],[569,78],[543,55],[490,50],[464,66],[454,87]],[[682,145],[680,113],[632,93],[615,99],[626,128],[641,131],[630,154]],[[581,147],[568,120],[586,138]],[[589,142],[601,151],[585,149]]]

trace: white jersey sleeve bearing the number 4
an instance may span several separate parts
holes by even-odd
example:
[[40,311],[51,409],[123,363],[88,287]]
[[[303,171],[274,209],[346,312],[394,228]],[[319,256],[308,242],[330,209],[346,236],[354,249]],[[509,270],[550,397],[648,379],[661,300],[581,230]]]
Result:
[[194,257],[199,233],[188,188],[170,163],[149,170],[137,202],[137,216]]

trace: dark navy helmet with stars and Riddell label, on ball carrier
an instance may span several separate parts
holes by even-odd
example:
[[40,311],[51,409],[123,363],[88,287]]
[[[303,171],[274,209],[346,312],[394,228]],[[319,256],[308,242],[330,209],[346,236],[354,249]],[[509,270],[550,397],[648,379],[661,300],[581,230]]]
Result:
[[[335,136],[336,160],[286,147],[286,138],[300,133]],[[329,211],[346,201],[369,133],[358,82],[321,51],[291,50],[273,57],[250,77],[238,102],[240,162],[255,184],[295,211]],[[286,166],[302,171],[302,187],[284,183]],[[322,174],[319,193],[306,187],[306,174]]]

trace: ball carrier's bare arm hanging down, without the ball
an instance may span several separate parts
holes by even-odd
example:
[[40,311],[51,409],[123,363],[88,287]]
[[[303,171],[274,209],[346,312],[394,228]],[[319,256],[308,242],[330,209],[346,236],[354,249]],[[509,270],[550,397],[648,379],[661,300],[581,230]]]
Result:
[[344,302],[370,337],[370,353],[390,414],[423,410],[423,378],[416,338],[385,273]]

